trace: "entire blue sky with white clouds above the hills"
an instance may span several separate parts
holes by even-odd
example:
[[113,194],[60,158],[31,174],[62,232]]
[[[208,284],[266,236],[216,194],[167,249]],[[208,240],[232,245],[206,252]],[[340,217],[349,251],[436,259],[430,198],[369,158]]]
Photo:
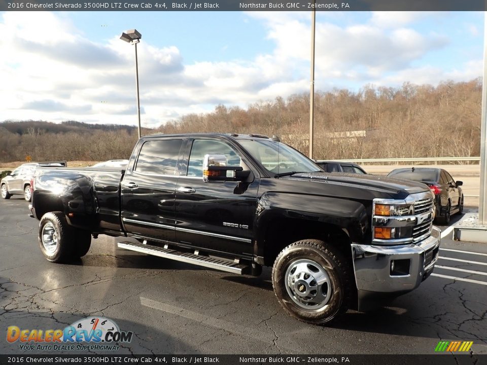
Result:
[[[0,121],[142,125],[309,90],[309,12],[0,13]],[[483,14],[317,12],[316,90],[482,74]]]

